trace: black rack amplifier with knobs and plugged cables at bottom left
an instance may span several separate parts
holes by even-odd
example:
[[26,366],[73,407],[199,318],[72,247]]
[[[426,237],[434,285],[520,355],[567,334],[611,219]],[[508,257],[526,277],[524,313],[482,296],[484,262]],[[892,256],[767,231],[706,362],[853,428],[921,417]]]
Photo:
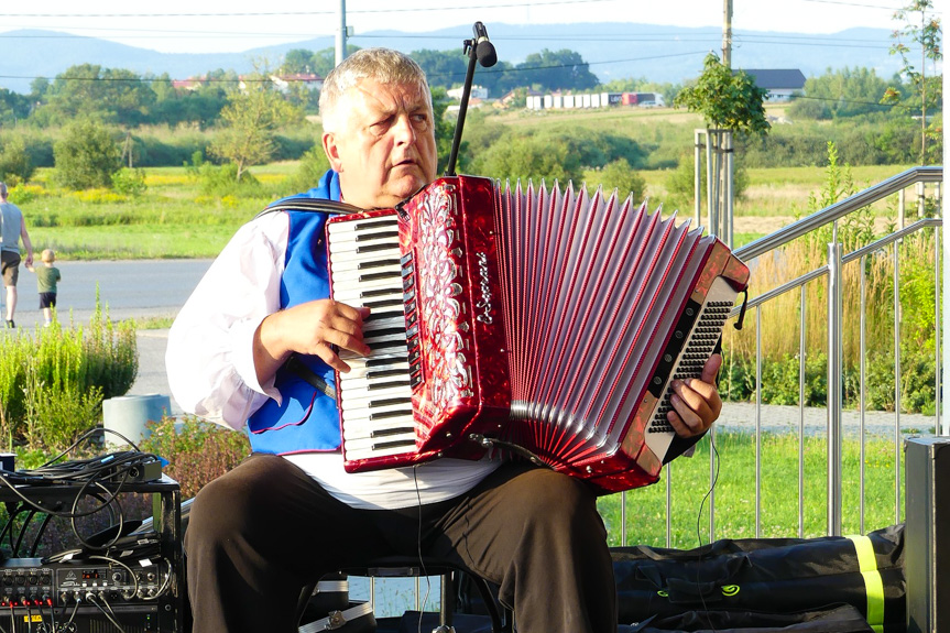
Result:
[[47,633],[172,631],[171,572],[164,563],[133,567],[87,557],[44,565],[40,558],[10,558],[0,564],[0,626]]

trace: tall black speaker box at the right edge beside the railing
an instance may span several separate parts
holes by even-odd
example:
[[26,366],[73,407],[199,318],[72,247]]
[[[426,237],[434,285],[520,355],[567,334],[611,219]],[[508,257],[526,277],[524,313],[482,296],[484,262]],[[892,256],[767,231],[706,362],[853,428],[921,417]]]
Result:
[[904,441],[907,631],[950,631],[950,437]]

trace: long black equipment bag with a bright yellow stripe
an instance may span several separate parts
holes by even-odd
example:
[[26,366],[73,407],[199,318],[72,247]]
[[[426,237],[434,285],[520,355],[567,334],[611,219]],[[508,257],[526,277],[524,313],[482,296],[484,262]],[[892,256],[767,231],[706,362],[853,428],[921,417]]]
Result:
[[904,525],[866,536],[613,547],[620,622],[688,611],[790,613],[844,603],[878,633],[906,627]]

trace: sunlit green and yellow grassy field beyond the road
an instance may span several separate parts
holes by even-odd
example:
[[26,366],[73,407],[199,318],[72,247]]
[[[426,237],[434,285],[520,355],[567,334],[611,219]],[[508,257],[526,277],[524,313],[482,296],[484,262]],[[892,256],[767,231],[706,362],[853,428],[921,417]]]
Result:
[[[184,167],[159,167],[146,170],[149,188],[138,198],[51,192],[20,204],[34,245],[52,248],[64,260],[211,258],[238,227],[267,203],[296,190],[287,185],[296,168],[293,162],[254,167],[261,186],[247,195],[206,196]],[[855,184],[864,187],[905,168],[904,165],[854,167],[852,173]],[[750,186],[745,197],[735,204],[735,245],[806,215],[808,196],[821,188],[825,177],[821,167],[747,173]],[[638,174],[646,182],[651,206],[663,204],[668,195],[665,182],[669,172]],[[42,184],[44,179],[41,171],[37,182]],[[908,196],[908,205],[913,199],[913,195]],[[18,201],[15,197],[12,200]],[[664,215],[673,210],[664,206]],[[875,212],[882,218],[894,214],[885,207]],[[691,217],[692,209],[680,209],[679,214]]]

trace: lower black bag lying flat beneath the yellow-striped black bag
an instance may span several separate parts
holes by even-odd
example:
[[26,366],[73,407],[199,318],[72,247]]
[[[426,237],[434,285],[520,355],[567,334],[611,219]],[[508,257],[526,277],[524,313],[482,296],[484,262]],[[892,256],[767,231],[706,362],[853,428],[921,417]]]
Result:
[[764,613],[761,611],[687,611],[649,618],[640,624],[620,625],[619,633],[873,633],[851,604],[830,604],[815,611]]

